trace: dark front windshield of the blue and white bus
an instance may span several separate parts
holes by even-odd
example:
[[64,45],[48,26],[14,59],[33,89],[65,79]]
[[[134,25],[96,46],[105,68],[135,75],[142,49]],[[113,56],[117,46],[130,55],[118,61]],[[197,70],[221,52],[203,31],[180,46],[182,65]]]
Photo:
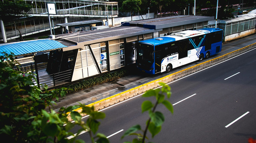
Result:
[[142,69],[149,70],[154,63],[153,45],[137,43],[136,52],[137,66]]

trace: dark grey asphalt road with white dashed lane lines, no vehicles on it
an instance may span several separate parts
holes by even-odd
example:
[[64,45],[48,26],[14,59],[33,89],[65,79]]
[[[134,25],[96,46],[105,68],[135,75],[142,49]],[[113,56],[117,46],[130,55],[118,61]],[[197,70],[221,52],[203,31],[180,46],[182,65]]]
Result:
[[[174,114],[158,106],[165,122],[162,131],[150,141],[246,143],[249,137],[256,139],[255,55],[256,50],[252,50],[171,82]],[[122,140],[120,137],[132,125],[140,124],[144,129],[148,119],[147,113],[141,113],[144,100],[148,99],[136,96],[102,110],[106,118],[101,121],[99,132],[109,136],[110,143],[132,141],[135,136]],[[78,138],[90,142],[88,133]]]

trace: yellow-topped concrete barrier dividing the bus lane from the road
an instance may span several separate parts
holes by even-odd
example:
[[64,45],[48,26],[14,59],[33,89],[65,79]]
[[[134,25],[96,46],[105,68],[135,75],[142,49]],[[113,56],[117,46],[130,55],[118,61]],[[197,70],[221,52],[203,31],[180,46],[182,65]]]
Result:
[[[121,102],[123,100],[126,100],[128,98],[131,98],[133,96],[136,96],[138,94],[146,92],[146,91],[148,91],[150,89],[156,88],[156,87],[159,86],[159,82],[164,82],[164,83],[172,82],[173,80],[176,80],[178,78],[184,77],[186,75],[192,74],[194,72],[200,71],[202,69],[205,69],[207,67],[215,65],[215,64],[220,63],[222,61],[225,61],[227,59],[235,57],[236,55],[239,55],[241,53],[244,53],[246,51],[254,49],[255,47],[256,47],[256,43],[248,45],[246,47],[243,47],[241,49],[232,51],[232,52],[227,53],[225,55],[222,55],[220,57],[217,57],[217,58],[214,58],[214,59],[210,59],[210,60],[205,61],[203,63],[200,63],[198,65],[194,65],[194,66],[189,67],[187,69],[184,69],[184,70],[181,70],[181,71],[169,74],[169,75],[164,76],[162,78],[150,81],[148,83],[145,83],[145,84],[142,84],[142,85],[137,86],[135,88],[132,88],[132,89],[126,90],[124,92],[115,94],[115,95],[107,97],[105,99],[96,101],[96,102],[94,102],[92,104],[88,104],[86,106],[94,106],[96,111],[101,110],[101,109],[105,108],[106,106],[111,106],[113,104],[116,104],[116,103]],[[74,111],[79,112],[81,114],[81,116],[85,116],[86,115],[86,114],[82,114],[81,113],[82,112],[82,108],[78,108],[78,109],[76,109]],[[68,112],[66,114],[68,114],[68,117],[67,117],[68,120],[71,121],[72,117],[70,116],[70,112]]]

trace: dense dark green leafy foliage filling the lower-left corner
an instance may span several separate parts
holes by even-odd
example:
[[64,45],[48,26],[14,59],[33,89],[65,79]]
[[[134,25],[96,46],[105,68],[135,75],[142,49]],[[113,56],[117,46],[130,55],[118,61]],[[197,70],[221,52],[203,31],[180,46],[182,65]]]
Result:
[[[97,119],[105,117],[104,113],[94,111],[93,107],[86,107],[82,104],[60,108],[58,113],[50,110],[50,113],[44,109],[50,108],[55,104],[52,99],[58,100],[59,96],[64,96],[66,88],[58,90],[47,90],[44,86],[44,92],[34,86],[32,78],[34,75],[24,74],[14,71],[13,67],[18,64],[14,60],[14,55],[4,53],[0,56],[0,137],[11,143],[83,143],[82,140],[76,140],[76,135],[70,132],[74,125],[79,125],[81,129],[88,130],[94,143],[108,143],[106,136],[98,133],[96,138],[93,134],[98,130],[100,123]],[[86,123],[81,120],[81,115],[74,111],[77,108],[83,108],[83,112],[90,115]],[[70,112],[75,123],[67,119]],[[66,124],[64,126],[64,124]],[[79,134],[78,132],[78,134]],[[74,135],[72,139],[66,139],[68,135]]]

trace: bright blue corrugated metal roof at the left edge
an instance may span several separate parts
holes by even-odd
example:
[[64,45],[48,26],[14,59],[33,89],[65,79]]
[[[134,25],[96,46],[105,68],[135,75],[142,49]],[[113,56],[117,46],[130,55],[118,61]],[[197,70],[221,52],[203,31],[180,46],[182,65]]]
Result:
[[59,49],[66,47],[62,43],[50,39],[22,41],[16,43],[7,43],[0,45],[0,55],[2,52],[10,54],[14,53],[15,56],[36,53],[40,51],[48,51],[52,49]]

